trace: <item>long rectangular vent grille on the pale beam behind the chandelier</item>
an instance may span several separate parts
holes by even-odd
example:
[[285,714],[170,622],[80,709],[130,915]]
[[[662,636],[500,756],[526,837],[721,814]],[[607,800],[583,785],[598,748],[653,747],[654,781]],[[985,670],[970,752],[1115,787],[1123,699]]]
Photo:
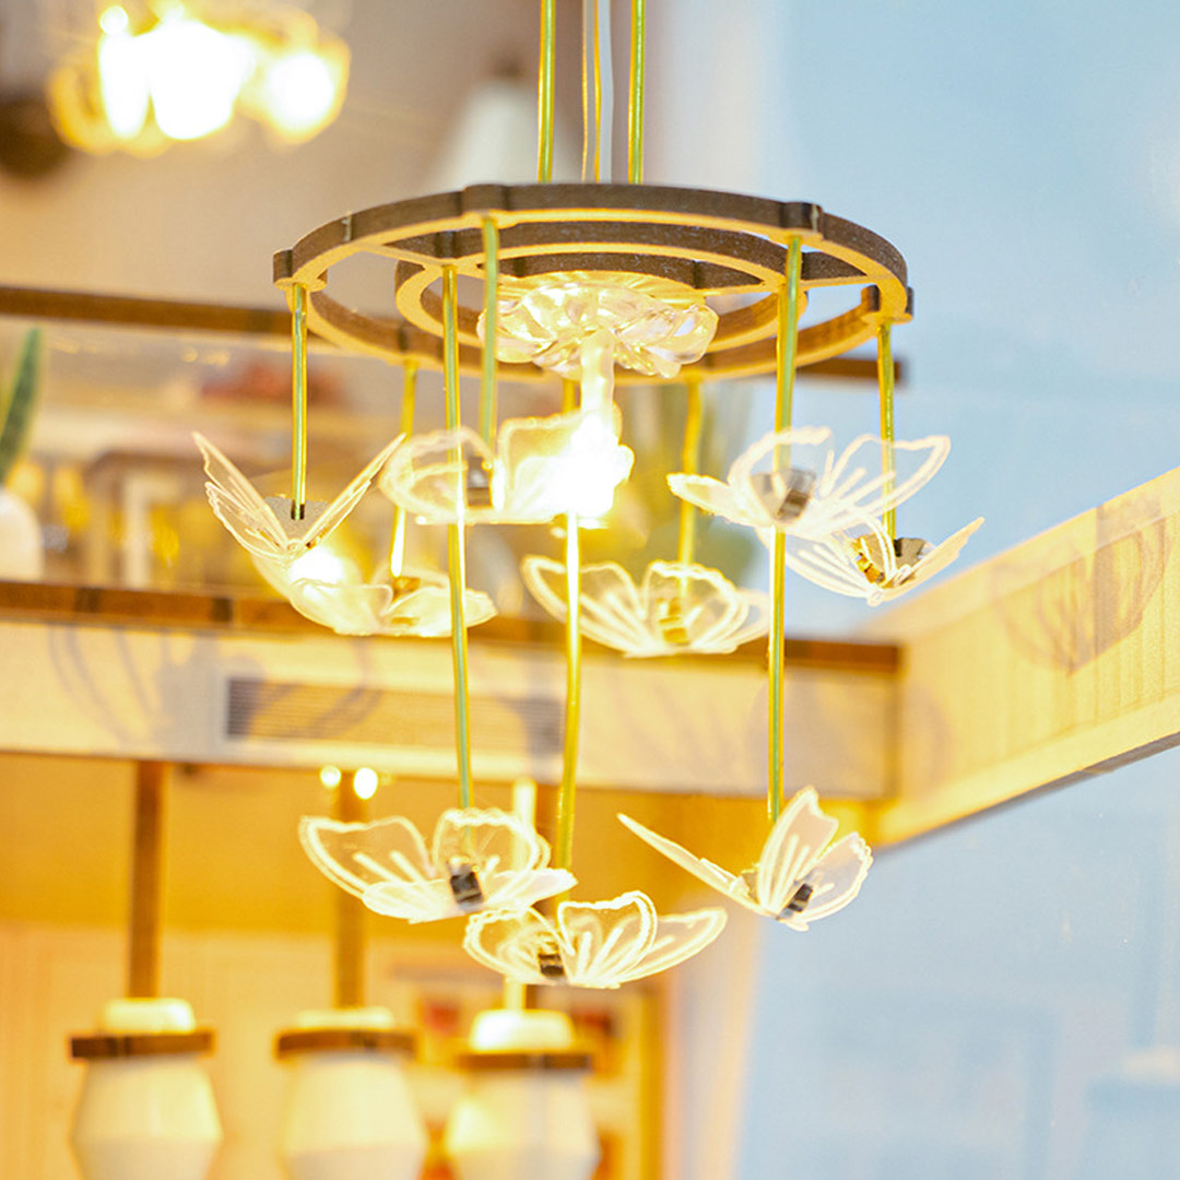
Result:
[[[450,695],[245,677],[231,678],[227,691],[227,738],[454,746]],[[472,743],[480,752],[558,753],[562,726],[562,707],[548,697],[471,697]]]

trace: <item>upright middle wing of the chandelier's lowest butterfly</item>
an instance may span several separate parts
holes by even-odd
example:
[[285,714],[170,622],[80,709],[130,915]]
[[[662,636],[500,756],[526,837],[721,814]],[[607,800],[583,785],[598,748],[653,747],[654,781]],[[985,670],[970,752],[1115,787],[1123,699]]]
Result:
[[583,988],[615,988],[630,977],[651,948],[656,911],[644,893],[610,902],[563,902],[557,929],[568,948],[568,981]]

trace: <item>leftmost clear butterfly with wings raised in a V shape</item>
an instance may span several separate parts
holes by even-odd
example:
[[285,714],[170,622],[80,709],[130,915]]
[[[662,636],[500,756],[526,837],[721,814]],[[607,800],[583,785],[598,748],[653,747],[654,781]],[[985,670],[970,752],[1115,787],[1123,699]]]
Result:
[[263,499],[209,439],[203,434],[192,438],[205,460],[209,477],[205,492],[217,518],[243,549],[269,563],[293,562],[328,537],[356,507],[399,441],[394,439],[376,454],[330,504],[309,500],[303,506],[303,517],[294,520],[288,497]]

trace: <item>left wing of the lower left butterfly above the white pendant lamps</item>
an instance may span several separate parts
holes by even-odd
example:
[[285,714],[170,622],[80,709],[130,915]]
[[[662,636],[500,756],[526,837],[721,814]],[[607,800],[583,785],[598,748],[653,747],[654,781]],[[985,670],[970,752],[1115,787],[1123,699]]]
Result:
[[316,868],[355,897],[363,897],[371,885],[421,883],[438,876],[418,828],[400,815],[372,824],[304,815],[299,838]]

